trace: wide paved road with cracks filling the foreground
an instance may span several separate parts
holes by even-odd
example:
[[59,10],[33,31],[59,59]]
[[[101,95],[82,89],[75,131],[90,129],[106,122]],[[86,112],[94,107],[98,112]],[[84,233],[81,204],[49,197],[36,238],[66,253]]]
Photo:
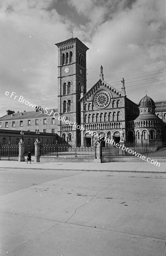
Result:
[[1,168],[0,177],[0,255],[166,255],[166,174]]

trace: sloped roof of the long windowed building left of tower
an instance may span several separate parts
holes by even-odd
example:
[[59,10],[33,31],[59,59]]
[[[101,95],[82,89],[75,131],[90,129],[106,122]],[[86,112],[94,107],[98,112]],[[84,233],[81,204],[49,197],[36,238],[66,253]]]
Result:
[[[52,112],[54,110],[54,112]],[[48,113],[46,113],[46,110],[44,112],[42,111],[28,111],[28,112],[17,112],[9,115],[4,115],[0,118],[0,121],[7,121],[7,120],[18,120],[18,119],[30,119],[30,118],[41,118],[41,117],[48,117],[49,114],[52,112],[50,116],[53,116],[55,112],[57,112],[57,109],[49,109],[47,110]]]

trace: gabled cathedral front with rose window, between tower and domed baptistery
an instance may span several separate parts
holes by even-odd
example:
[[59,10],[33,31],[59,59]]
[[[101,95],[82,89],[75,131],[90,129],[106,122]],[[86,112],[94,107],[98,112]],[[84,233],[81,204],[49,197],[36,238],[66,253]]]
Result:
[[103,68],[100,77],[80,100],[81,126],[84,127],[84,131],[81,131],[81,141],[87,146],[94,145],[93,133],[96,131],[103,137],[107,136],[115,142],[120,142],[120,132],[123,130],[126,139],[126,121],[138,115],[137,104],[125,95],[124,80],[120,92],[103,80]]

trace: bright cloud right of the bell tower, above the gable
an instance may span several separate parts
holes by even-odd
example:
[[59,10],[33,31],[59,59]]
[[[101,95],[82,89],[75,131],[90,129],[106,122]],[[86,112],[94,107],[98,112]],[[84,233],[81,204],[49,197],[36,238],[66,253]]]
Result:
[[[165,68],[160,65],[165,62],[165,19],[161,3],[140,0],[133,2],[131,9],[125,7],[113,14],[112,19],[97,28],[88,47],[88,77],[99,77],[101,64],[108,82],[120,81],[120,76],[152,73],[154,69],[150,67],[154,65],[157,71],[162,71]],[[132,69],[137,71],[131,72]],[[127,70],[130,72],[126,73]],[[88,85],[91,86],[95,79],[88,80]],[[138,94],[128,93],[128,96],[135,100]]]

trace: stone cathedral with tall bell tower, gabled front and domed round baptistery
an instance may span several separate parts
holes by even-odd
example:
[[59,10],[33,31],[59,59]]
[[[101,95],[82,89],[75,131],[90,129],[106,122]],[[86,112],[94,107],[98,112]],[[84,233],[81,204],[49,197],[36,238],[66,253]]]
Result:
[[97,131],[115,142],[120,141],[120,131],[124,132],[127,142],[149,143],[156,139],[161,141],[163,121],[156,116],[155,103],[150,97],[145,96],[139,105],[135,104],[126,97],[125,80],[121,81],[121,91],[110,86],[104,80],[102,66],[99,66],[99,80],[87,92],[88,47],[78,38],[65,40],[56,46],[59,114],[84,127],[81,130],[59,122],[58,133],[64,141],[93,146],[95,138],[87,130],[94,133]]

